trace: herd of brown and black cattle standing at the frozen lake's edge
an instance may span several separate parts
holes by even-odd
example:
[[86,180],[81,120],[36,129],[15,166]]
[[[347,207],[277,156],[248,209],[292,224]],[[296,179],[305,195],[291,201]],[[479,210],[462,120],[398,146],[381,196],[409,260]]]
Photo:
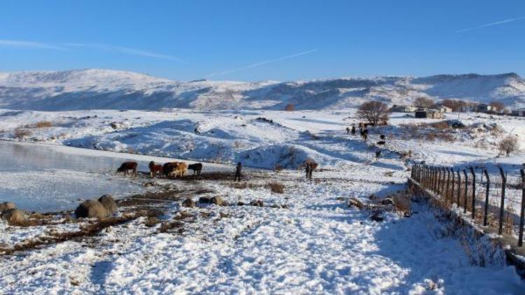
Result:
[[[124,173],[127,175],[131,173],[134,176],[137,176],[137,162],[136,161],[127,161],[124,162],[117,169],[118,172]],[[195,163],[188,165],[184,162],[168,162],[164,165],[157,164],[154,161],[151,161],[149,164],[151,178],[155,178],[158,174],[162,173],[167,178],[177,178],[188,175],[188,169],[193,171],[193,174],[200,175],[202,171],[202,163]]]

